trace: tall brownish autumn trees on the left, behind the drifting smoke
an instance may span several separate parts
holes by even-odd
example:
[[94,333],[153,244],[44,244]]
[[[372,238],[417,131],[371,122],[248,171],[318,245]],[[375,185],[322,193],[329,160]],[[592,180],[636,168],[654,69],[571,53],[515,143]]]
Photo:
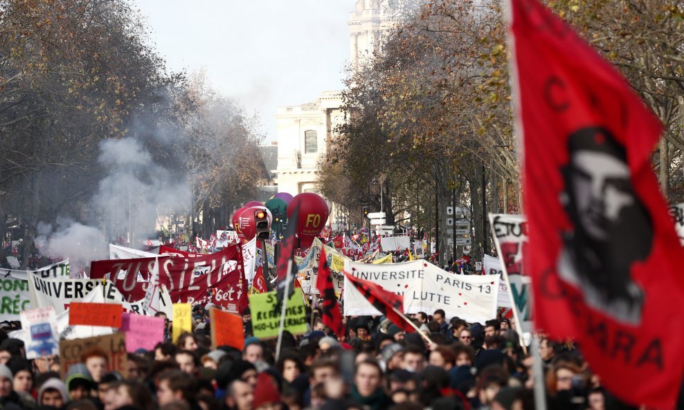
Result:
[[[196,155],[208,141],[218,144],[212,138],[240,132],[253,148],[240,158],[260,163],[258,137],[235,125],[249,121],[240,107],[226,107],[233,122],[206,138],[197,124],[214,118],[192,99],[186,76],[166,70],[147,37],[125,0],[14,0],[0,10],[0,239],[10,227],[13,239],[24,239],[24,265],[39,223],[100,221],[91,198],[107,171],[98,162],[102,141],[135,138],[166,173],[181,180],[201,174],[217,192],[226,184],[249,192],[256,183],[225,182],[227,170]],[[249,174],[253,165],[231,171]],[[188,200],[188,216],[191,202],[193,215],[211,206]],[[107,232],[109,239],[116,233]]]

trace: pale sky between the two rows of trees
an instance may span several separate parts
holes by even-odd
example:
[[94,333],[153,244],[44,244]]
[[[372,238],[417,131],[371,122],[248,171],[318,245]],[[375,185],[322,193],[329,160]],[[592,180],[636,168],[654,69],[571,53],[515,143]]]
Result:
[[355,0],[135,0],[173,71],[206,68],[276,140],[276,107],[342,87]]

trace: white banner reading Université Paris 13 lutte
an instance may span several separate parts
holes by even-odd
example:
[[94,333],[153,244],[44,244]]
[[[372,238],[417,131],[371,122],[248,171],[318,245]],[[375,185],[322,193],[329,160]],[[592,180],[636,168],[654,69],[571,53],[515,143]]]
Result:
[[[345,270],[404,297],[404,312],[431,315],[444,309],[447,317],[484,323],[496,317],[498,277],[458,275],[424,260],[369,264],[347,261]],[[344,314],[380,315],[345,279]]]

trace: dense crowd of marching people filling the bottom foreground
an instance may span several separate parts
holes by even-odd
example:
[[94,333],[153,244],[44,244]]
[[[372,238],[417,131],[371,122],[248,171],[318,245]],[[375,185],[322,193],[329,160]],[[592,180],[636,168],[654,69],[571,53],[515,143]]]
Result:
[[[208,312],[193,309],[193,331],[153,351],[127,357],[127,374],[109,370],[107,354],[85,351],[60,377],[59,357],[26,360],[24,344],[0,324],[0,409],[271,410],[271,409],[533,409],[532,357],[514,321],[469,324],[443,310],[418,313],[418,333],[383,317],[345,317],[345,337],[314,310],[309,332],[276,341],[251,335],[244,346],[211,348]],[[162,315],[163,314],[159,314]],[[579,350],[541,339],[548,409],[613,409]],[[607,405],[607,407],[606,407]],[[622,407],[619,407],[622,408]]]

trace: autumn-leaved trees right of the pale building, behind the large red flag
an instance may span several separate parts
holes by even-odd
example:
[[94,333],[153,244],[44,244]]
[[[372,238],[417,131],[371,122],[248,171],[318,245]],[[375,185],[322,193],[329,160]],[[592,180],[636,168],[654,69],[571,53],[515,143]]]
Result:
[[[669,200],[682,201],[681,3],[548,5],[627,76],[666,124],[654,167]],[[388,222],[410,214],[411,225],[434,235],[436,221],[440,254],[444,207],[466,205],[473,254],[491,249],[483,212],[523,212],[502,7],[489,0],[427,1],[386,36],[380,52],[349,72],[348,122],[321,164],[329,198],[350,209],[379,209],[381,186]],[[379,177],[388,182],[375,183]]]

